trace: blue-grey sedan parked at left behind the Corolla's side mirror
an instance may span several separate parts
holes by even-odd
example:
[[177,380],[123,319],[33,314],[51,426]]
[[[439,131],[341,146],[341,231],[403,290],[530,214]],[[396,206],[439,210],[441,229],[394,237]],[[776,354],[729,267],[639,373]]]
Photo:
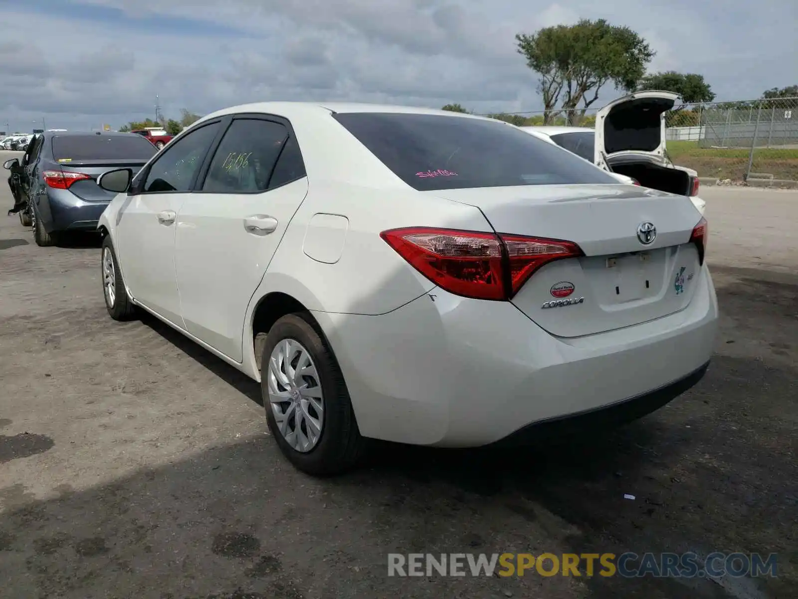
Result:
[[6,161],[21,167],[20,188],[27,208],[23,225],[34,228],[40,246],[53,245],[74,231],[95,231],[113,193],[97,187],[97,175],[125,167],[137,172],[157,152],[131,133],[45,132],[34,137],[22,157]]

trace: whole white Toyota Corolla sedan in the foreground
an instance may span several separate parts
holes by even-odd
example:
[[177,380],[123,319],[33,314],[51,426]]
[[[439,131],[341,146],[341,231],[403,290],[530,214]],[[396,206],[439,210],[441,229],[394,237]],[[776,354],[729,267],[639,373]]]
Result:
[[687,196],[619,184],[492,119],[266,103],[203,117],[100,220],[138,307],[261,383],[299,469],[365,441],[517,444],[626,422],[697,383],[717,300]]

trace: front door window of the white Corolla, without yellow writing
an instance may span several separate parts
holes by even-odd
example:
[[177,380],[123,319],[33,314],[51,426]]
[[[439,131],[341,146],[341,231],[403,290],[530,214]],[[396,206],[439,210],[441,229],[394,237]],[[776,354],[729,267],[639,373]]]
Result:
[[181,137],[174,144],[169,144],[149,169],[143,191],[190,191],[194,177],[202,166],[216,133],[219,133],[218,122],[200,127]]

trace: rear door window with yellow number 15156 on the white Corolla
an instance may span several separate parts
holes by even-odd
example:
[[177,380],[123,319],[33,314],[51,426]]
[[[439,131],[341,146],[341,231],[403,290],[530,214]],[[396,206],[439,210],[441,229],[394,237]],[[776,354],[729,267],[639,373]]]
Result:
[[236,119],[227,129],[211,161],[203,192],[264,192],[277,158],[288,139],[280,123]]

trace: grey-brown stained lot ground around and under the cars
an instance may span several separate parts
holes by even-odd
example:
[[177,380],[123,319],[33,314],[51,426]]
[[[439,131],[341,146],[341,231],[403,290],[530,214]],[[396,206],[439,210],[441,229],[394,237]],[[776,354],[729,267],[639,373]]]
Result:
[[[255,383],[109,319],[96,244],[38,248],[3,212],[0,596],[798,597],[798,192],[703,196],[723,316],[692,391],[579,445],[384,446],[332,480],[282,459]],[[389,552],[626,550],[778,553],[779,576],[387,576]]]

